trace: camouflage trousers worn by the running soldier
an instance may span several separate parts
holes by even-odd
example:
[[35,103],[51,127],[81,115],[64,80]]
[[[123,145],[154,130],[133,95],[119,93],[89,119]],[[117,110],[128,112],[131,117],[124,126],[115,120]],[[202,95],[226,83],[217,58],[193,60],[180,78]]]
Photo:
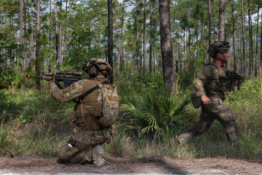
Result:
[[227,140],[238,142],[238,127],[234,120],[232,111],[219,98],[209,97],[212,105],[202,105],[202,111],[198,123],[188,128],[183,134],[176,137],[179,143],[186,143],[193,136],[203,134],[207,131],[212,122],[217,119],[225,128]]

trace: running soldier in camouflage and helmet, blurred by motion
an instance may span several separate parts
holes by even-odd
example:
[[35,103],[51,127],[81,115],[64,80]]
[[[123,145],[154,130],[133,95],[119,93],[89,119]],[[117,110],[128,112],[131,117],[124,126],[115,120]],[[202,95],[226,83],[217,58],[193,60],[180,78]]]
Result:
[[[224,92],[229,91],[228,82],[221,84],[219,77],[229,74],[237,74],[223,67],[228,61],[228,50],[230,45],[225,41],[215,41],[208,49],[209,56],[214,61],[208,63],[197,74],[193,81],[193,88],[196,98],[199,100],[202,111],[198,123],[188,128],[183,134],[171,138],[174,146],[185,144],[193,136],[201,135],[209,129],[212,122],[217,119],[225,128],[227,140],[233,143],[238,142],[238,127],[232,111],[223,103]],[[234,82],[237,86],[238,80]],[[192,101],[193,103],[193,101]]]

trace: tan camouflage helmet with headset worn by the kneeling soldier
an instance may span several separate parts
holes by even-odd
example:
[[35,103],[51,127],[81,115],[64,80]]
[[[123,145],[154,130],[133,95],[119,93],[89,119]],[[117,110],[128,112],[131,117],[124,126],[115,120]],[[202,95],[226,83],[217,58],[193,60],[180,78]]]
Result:
[[111,73],[112,67],[103,59],[91,58],[89,62],[85,62],[82,70],[88,73],[91,78],[102,74],[105,74],[107,77]]

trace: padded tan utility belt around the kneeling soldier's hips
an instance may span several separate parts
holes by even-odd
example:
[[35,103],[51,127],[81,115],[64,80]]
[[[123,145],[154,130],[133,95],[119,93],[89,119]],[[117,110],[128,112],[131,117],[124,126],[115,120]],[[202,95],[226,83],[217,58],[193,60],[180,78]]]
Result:
[[73,134],[71,135],[71,137],[75,141],[87,145],[95,145],[110,140],[111,135],[114,134],[114,129],[112,128],[112,126],[109,126],[108,128],[103,129],[102,131],[89,131],[82,129],[74,124],[72,133]]

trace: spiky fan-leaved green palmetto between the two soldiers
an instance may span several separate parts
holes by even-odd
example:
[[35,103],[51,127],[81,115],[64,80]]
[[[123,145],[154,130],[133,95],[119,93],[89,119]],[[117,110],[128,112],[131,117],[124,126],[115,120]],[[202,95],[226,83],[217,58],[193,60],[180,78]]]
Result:
[[125,104],[121,105],[121,110],[134,117],[128,127],[137,129],[142,135],[144,133],[157,135],[169,124],[179,126],[189,115],[185,110],[190,103],[189,96],[183,100],[161,98],[157,97],[156,93],[144,91],[141,102],[134,96],[130,101],[123,99]]

